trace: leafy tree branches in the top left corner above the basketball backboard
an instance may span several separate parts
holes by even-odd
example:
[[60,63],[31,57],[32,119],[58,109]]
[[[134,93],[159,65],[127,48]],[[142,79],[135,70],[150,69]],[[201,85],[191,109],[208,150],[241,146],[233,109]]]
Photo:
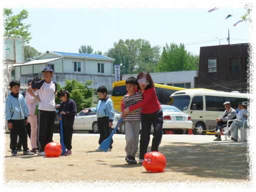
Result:
[[23,38],[24,44],[28,43],[32,38],[31,32],[28,32],[31,24],[23,23],[28,16],[28,11],[23,9],[16,15],[11,15],[12,13],[11,8],[3,8],[3,37]]

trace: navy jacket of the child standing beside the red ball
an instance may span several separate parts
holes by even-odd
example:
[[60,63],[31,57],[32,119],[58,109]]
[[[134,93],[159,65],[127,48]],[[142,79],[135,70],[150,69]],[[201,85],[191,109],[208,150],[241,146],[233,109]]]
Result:
[[73,126],[76,113],[75,102],[71,98],[65,102],[61,101],[58,107],[58,116],[61,111],[66,112],[66,114],[62,114],[62,125]]

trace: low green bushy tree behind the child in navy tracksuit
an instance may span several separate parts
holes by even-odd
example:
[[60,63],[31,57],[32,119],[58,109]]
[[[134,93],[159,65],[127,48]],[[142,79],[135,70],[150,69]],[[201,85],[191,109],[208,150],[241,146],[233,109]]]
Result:
[[[70,98],[75,101],[77,112],[79,112],[84,109],[84,107],[87,108],[92,106],[93,89],[88,88],[91,83],[91,80],[85,80],[85,83],[81,83],[74,79],[65,80],[65,86],[60,87],[59,89],[63,88],[69,92]],[[55,97],[55,102],[60,103],[60,98]]]

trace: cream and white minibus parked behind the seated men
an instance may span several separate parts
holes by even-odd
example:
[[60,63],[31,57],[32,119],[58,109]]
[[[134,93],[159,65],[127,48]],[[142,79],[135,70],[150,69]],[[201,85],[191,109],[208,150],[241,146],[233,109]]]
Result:
[[216,128],[216,118],[220,117],[229,101],[233,109],[237,103],[247,101],[248,94],[236,92],[210,91],[198,89],[179,90],[170,95],[170,105],[191,116],[194,134],[204,134],[203,130]]

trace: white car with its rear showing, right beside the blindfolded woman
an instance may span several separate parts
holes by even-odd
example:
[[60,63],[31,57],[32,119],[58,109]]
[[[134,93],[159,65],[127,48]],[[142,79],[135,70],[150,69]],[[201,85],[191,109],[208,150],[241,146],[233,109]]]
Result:
[[[175,106],[161,104],[163,113],[162,130],[172,130],[174,134],[184,134],[189,128],[192,128],[191,116],[183,113]],[[140,125],[141,129],[141,125]],[[124,123],[119,127],[120,133],[125,134]],[[151,125],[150,133],[153,133]]]

